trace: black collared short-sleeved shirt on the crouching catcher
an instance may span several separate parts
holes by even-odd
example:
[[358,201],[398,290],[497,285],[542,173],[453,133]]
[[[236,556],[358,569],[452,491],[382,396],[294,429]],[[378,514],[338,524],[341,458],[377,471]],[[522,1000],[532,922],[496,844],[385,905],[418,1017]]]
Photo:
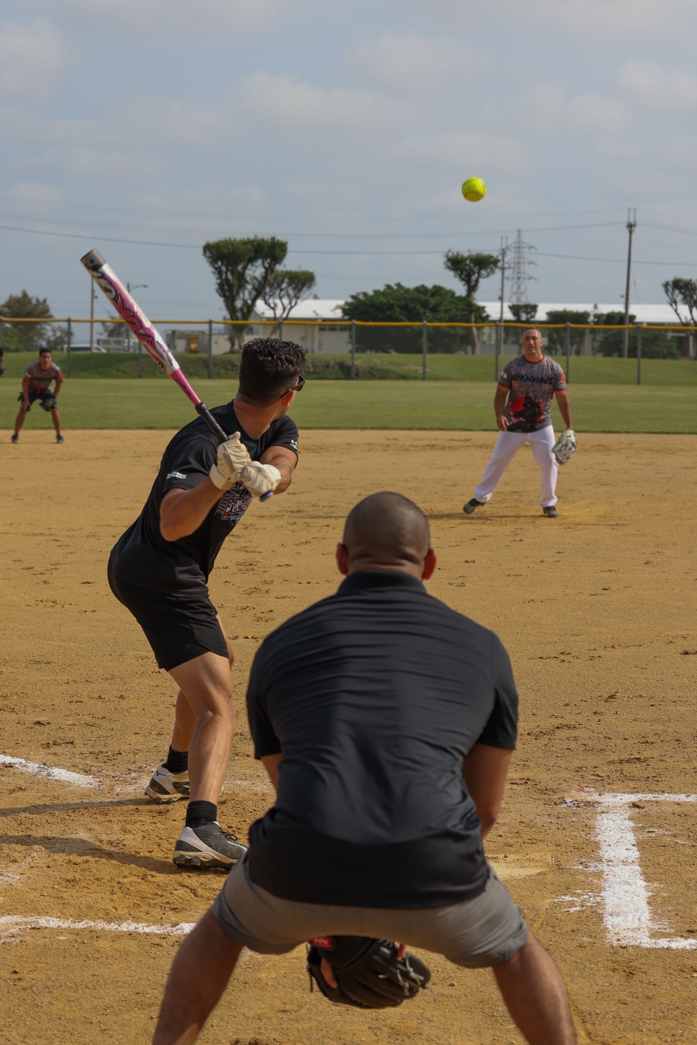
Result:
[[391,571],[352,574],[262,643],[247,707],[256,758],[282,752],[250,832],[250,878],[305,903],[440,907],[484,890],[462,762],[515,747],[501,641]]

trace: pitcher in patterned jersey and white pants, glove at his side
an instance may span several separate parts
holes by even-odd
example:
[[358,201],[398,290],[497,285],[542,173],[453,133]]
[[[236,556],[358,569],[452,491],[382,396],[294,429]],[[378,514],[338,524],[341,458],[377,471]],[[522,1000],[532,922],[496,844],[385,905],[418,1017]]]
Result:
[[549,518],[559,514],[555,508],[558,466],[552,452],[552,399],[557,400],[564,425],[573,428],[564,372],[555,359],[542,354],[542,335],[535,327],[522,331],[520,344],[522,354],[507,364],[498,378],[493,400],[498,438],[474,496],[462,509],[465,515],[486,505],[508,464],[528,442],[542,469],[542,512]]

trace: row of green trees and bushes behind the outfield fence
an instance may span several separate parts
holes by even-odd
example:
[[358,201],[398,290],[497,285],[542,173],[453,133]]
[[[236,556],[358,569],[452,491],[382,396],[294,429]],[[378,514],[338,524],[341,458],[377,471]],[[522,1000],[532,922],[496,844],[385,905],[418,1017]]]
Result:
[[[252,320],[259,301],[281,323],[315,287],[315,273],[304,269],[283,268],[287,249],[287,242],[275,236],[224,238],[204,243],[203,255],[213,273],[215,291],[225,305],[227,318],[239,324],[230,334],[231,351],[241,348],[245,325]],[[343,318],[362,323],[421,323],[425,320],[428,323],[448,324],[490,321],[486,309],[477,302],[477,294],[482,280],[498,271],[501,257],[478,251],[446,251],[443,264],[462,285],[462,293],[439,284],[409,287],[401,283],[388,283],[381,289],[351,295],[344,302]],[[675,277],[663,283],[663,289],[680,324],[697,326],[697,280]],[[533,302],[509,305],[514,320],[519,323],[534,322],[537,307]],[[687,310],[687,316],[682,309]],[[46,298],[31,297],[26,291],[9,295],[0,304],[0,316],[5,320],[5,351],[36,351],[41,346],[57,351],[65,349],[67,345],[65,328],[41,322],[13,323],[13,318],[51,320],[53,317]],[[635,324],[635,321],[634,316],[629,317],[630,324]],[[584,310],[559,309],[549,311],[547,322],[613,326],[624,323],[624,312],[591,315]],[[103,326],[108,328],[107,324]],[[109,332],[115,334],[121,329],[119,324],[115,324],[113,328],[109,328]],[[570,334],[572,351],[580,352],[585,331],[571,330]],[[622,353],[621,330],[593,330],[590,336],[594,354]],[[547,351],[551,354],[563,353],[565,339],[565,330],[549,330],[545,335]],[[471,352],[479,353],[475,327],[468,331],[467,340]],[[462,333],[457,329],[436,327],[428,331],[431,351],[458,352],[463,350],[463,344]],[[421,331],[418,328],[400,330],[395,327],[358,327],[356,348],[363,352],[418,352],[421,348]],[[665,331],[645,330],[642,334],[642,354],[649,358],[672,358],[678,357],[680,352],[675,341]],[[635,329],[629,333],[629,355],[636,355]]]

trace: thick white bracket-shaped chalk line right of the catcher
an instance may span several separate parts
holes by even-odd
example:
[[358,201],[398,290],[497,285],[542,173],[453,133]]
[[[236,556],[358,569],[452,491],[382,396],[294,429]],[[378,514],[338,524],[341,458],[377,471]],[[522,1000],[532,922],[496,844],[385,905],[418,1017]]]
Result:
[[650,889],[640,862],[629,808],[632,803],[697,803],[697,794],[602,794],[596,820],[603,873],[603,922],[608,942],[615,947],[697,950],[697,939],[659,936],[651,915]]

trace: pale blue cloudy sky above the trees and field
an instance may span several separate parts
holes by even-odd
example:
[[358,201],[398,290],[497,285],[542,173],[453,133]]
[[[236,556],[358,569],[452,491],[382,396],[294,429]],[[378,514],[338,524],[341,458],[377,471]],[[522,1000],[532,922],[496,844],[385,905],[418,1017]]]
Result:
[[635,208],[663,302],[697,278],[696,31],[694,0],[0,0],[0,301],[87,316],[96,247],[152,318],[220,318],[202,245],[251,234],[322,298],[457,288],[446,250],[519,229],[527,300],[620,302]]

